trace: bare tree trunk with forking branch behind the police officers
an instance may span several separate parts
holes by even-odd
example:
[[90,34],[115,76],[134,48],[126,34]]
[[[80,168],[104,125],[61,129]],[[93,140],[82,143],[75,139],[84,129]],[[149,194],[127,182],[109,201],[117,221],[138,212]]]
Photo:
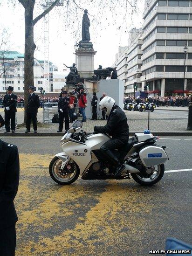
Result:
[[24,123],[26,122],[26,110],[27,110],[27,99],[28,99],[28,86],[34,86],[34,50],[36,45],[34,43],[34,25],[41,20],[46,14],[48,14],[60,0],[55,0],[53,3],[44,9],[44,11],[34,18],[34,5],[35,0],[18,0],[25,9],[25,59],[24,59],[24,103],[25,103],[25,117]]

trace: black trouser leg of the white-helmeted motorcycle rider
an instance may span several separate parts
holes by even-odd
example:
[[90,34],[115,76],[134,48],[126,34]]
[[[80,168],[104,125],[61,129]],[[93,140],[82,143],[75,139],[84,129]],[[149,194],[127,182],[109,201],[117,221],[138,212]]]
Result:
[[120,149],[123,145],[127,144],[129,140],[129,135],[123,136],[121,138],[112,138],[109,141],[105,142],[101,146],[101,152],[108,162],[110,162],[114,167],[120,165],[119,159],[117,158],[115,149]]

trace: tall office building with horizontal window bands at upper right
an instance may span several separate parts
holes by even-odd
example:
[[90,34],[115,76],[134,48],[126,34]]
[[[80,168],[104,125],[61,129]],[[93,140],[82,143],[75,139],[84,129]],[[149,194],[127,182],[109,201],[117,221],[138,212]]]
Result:
[[142,89],[149,81],[152,96],[190,93],[192,0],[147,0],[143,19]]

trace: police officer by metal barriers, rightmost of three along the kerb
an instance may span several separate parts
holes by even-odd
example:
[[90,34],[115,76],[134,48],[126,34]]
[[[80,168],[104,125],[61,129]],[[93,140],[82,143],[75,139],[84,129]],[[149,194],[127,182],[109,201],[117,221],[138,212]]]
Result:
[[62,97],[59,98],[58,102],[58,112],[59,112],[59,130],[57,132],[62,132],[63,120],[65,118],[65,131],[69,130],[69,97],[67,97],[68,92],[66,90],[62,91]]

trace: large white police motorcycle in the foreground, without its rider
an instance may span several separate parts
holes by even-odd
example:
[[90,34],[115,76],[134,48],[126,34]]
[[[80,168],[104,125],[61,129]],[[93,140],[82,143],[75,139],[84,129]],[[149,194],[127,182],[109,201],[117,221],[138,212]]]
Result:
[[51,178],[58,184],[69,185],[79,175],[82,180],[124,180],[130,179],[131,175],[133,180],[145,186],[154,185],[162,179],[168,156],[165,146],[156,144],[158,137],[145,131],[130,138],[127,145],[117,151],[117,157],[125,168],[116,178],[114,167],[103,158],[100,150],[110,139],[103,133],[87,135],[82,130],[82,122],[75,120],[61,139],[62,152],[50,162]]

